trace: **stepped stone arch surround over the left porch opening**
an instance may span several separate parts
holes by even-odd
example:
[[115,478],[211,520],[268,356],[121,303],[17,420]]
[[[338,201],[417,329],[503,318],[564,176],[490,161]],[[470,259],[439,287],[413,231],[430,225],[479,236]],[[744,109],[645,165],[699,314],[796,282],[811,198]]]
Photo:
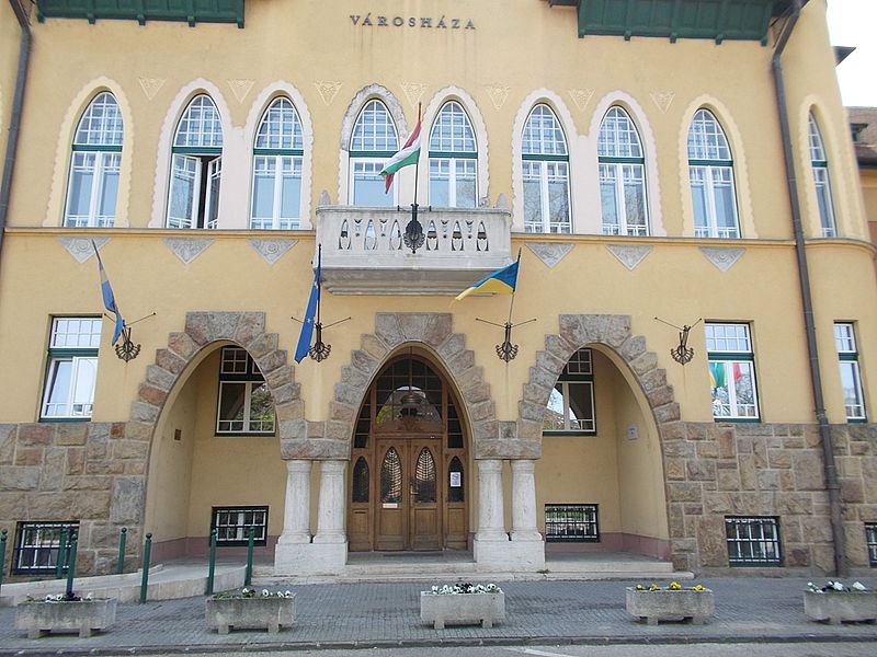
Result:
[[285,349],[278,349],[276,333],[265,333],[263,312],[187,312],[185,328],[168,335],[167,348],[156,350],[156,361],[146,368],[146,379],[132,403],[130,422],[155,431],[159,416],[180,377],[212,343],[228,341],[242,346],[252,356],[274,400],[280,437],[284,427],[304,416],[299,385],[287,365]]

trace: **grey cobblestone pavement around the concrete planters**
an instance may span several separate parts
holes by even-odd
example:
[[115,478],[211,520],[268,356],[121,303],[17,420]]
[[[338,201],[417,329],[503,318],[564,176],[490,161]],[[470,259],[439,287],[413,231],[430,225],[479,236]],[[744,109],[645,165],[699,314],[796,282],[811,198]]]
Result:
[[[862,579],[867,586],[877,580]],[[629,581],[510,581],[506,619],[492,629],[433,630],[420,620],[422,584],[341,584],[272,587],[293,590],[296,621],[280,634],[232,631],[204,622],[204,599],[119,606],[116,624],[89,638],[75,634],[29,639],[13,629],[14,609],[0,609],[0,655],[314,649],[425,645],[537,645],[703,642],[868,642],[877,625],[828,625],[804,614],[801,578],[697,579],[715,592],[716,616],[705,625],[649,626],[625,611]],[[867,650],[865,650],[866,654]],[[874,653],[872,653],[874,654]]]

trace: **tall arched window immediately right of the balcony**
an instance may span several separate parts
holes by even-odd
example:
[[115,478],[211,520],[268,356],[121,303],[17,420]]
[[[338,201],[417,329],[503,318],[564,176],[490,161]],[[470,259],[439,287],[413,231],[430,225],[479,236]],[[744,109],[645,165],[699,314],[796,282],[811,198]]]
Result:
[[[555,112],[545,103],[529,111],[524,123],[522,142],[522,180],[524,184],[524,232],[572,232],[572,194],[570,189],[569,148]],[[529,220],[527,183],[538,183],[539,217]],[[566,216],[551,216],[551,184],[562,183],[566,194]]]

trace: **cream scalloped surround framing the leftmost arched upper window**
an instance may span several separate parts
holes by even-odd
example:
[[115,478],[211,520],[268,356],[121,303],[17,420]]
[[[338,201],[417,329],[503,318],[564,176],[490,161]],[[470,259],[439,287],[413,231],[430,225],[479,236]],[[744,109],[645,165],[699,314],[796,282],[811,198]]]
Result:
[[132,158],[134,151],[135,125],[130,103],[122,90],[122,85],[110,78],[96,78],[84,84],[67,107],[58,132],[58,142],[55,150],[55,170],[52,176],[52,191],[49,192],[46,216],[43,226],[64,226],[67,206],[68,183],[70,180],[72,158],[71,145],[76,139],[79,123],[91,103],[102,93],[112,94],[118,107],[121,120],[124,126],[118,163],[118,180],[115,194],[115,228],[127,228],[128,203],[130,196]]

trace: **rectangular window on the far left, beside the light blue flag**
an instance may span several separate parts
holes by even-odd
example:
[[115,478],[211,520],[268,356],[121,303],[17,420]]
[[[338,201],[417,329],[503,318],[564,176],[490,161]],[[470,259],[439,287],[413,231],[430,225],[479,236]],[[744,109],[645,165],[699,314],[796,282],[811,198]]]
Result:
[[42,419],[91,417],[100,344],[100,318],[52,321]]

